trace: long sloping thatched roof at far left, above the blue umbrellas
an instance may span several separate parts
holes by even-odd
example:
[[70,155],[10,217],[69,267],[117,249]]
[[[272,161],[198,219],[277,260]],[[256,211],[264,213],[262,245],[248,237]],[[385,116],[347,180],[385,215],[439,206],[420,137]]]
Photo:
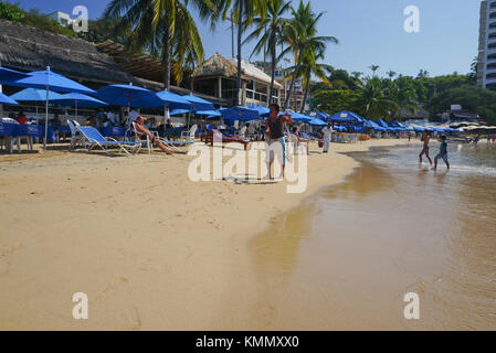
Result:
[[134,78],[87,41],[0,19],[0,62],[20,71],[50,66],[73,79],[129,83]]

